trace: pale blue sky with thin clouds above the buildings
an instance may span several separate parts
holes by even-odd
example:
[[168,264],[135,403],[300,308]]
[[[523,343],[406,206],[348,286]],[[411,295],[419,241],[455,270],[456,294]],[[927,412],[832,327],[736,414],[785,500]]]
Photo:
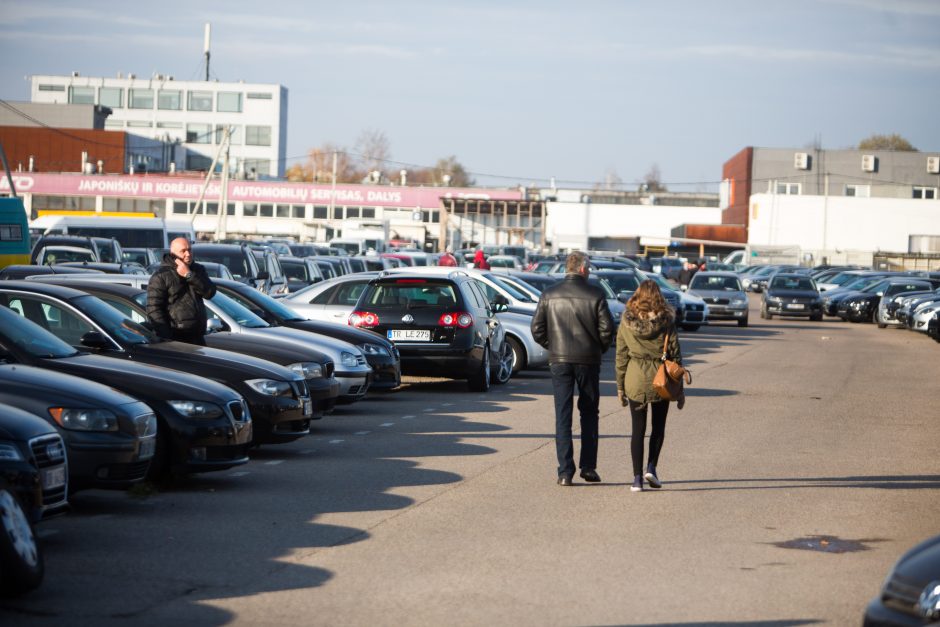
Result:
[[288,165],[374,129],[482,184],[633,189],[656,164],[713,191],[745,146],[940,151],[940,0],[0,0],[0,98],[31,74],[201,78],[205,22],[213,78],[288,88]]

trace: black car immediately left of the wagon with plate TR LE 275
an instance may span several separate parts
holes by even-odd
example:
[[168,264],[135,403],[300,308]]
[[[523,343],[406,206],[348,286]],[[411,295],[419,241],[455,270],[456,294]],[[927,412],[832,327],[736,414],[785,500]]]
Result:
[[279,300],[238,281],[217,280],[215,286],[272,326],[309,331],[359,347],[366,356],[366,361],[372,366],[370,389],[390,390],[401,385],[401,357],[398,349],[393,342],[378,333],[343,324],[308,320]]

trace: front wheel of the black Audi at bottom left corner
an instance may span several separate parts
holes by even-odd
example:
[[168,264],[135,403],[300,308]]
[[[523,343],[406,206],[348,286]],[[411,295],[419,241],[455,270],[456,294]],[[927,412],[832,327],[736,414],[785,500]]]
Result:
[[42,550],[16,496],[0,488],[0,590],[18,594],[42,583]]

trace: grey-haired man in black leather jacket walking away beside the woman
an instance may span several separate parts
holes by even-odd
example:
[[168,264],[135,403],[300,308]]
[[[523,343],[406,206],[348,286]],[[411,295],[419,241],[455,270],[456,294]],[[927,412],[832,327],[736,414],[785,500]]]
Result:
[[601,358],[614,339],[614,321],[600,288],[588,284],[590,260],[582,252],[568,255],[565,278],[542,292],[532,317],[532,337],[549,351],[555,395],[555,452],[558,484],[574,477],[571,415],[574,388],[581,414],[581,477],[595,483]]

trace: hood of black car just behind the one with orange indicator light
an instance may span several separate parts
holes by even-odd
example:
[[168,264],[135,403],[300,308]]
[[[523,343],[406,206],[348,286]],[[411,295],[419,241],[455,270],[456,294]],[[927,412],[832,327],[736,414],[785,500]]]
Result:
[[43,358],[36,365],[109,385],[143,401],[188,399],[219,402],[232,400],[235,394],[221,383],[204,377],[101,355]]

